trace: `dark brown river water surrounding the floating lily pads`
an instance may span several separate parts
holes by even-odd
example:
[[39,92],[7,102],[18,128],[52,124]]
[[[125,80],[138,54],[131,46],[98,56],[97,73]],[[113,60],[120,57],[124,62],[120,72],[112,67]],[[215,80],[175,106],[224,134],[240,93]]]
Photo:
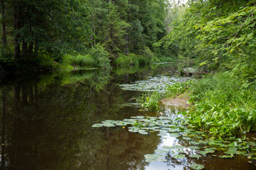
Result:
[[[144,155],[155,149],[189,144],[170,135],[132,133],[127,127],[92,128],[106,119],[145,115],[136,107],[127,106],[130,98],[142,92],[124,91],[118,84],[145,80],[163,70],[159,67],[2,77],[1,169],[167,170],[191,169],[191,163],[203,164],[205,169],[256,169],[239,155],[233,159],[210,155],[181,160],[166,155],[166,162],[148,163]],[[164,111],[166,115],[172,112]]]

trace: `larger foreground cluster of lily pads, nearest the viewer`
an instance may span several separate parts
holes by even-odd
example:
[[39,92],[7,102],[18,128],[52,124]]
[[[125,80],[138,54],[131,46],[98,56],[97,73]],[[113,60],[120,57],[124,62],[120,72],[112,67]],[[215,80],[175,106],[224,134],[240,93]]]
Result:
[[[166,154],[171,153],[174,159],[184,159],[185,154],[188,157],[199,158],[201,155],[212,154],[214,157],[233,158],[235,154],[240,154],[248,159],[256,159],[256,138],[252,141],[233,139],[233,140],[215,140],[207,139],[208,132],[194,130],[190,127],[182,115],[173,115],[171,117],[145,117],[132,116],[130,119],[124,120],[105,120],[102,123],[92,125],[94,128],[100,127],[115,127],[129,125],[129,132],[138,132],[142,135],[148,135],[152,132],[159,132],[159,136],[176,137],[178,140],[183,140],[189,143],[188,147],[181,145],[164,146],[162,149],[155,150],[154,154],[146,154],[144,157],[146,162],[166,161]],[[215,151],[220,151],[221,154],[215,154]],[[192,154],[191,154],[191,151]],[[193,169],[203,169],[202,165],[193,164]]]

